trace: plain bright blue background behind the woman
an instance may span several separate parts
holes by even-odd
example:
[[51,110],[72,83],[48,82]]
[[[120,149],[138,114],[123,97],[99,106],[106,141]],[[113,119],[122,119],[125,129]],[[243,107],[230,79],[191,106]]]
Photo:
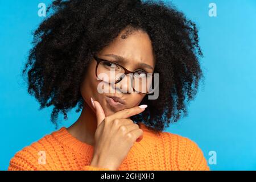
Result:
[[[0,0],[0,169],[24,146],[51,133],[52,107],[39,111],[20,77],[31,48],[31,32],[43,20],[38,4],[49,0]],[[166,131],[194,140],[209,159],[217,152],[212,170],[256,169],[256,1],[217,1],[217,17],[208,15],[209,3],[172,1],[199,28],[204,86],[188,106],[188,116]],[[68,127],[75,110],[63,123]],[[61,118],[60,118],[61,119]],[[63,126],[60,125],[60,126]]]

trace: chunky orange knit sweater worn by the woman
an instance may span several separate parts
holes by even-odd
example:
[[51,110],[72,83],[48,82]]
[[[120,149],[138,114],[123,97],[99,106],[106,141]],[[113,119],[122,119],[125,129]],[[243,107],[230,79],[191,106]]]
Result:
[[[118,170],[209,170],[203,152],[191,139],[177,134],[152,133],[143,123],[141,142],[135,142]],[[65,127],[24,147],[10,161],[8,170],[92,170],[93,146],[68,133]]]

